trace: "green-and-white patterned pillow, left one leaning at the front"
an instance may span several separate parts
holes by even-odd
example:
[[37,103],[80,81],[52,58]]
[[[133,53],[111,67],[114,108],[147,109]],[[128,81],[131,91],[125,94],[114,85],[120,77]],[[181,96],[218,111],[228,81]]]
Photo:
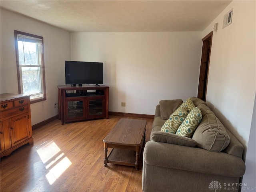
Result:
[[161,131],[175,134],[180,124],[184,121],[188,115],[186,108],[175,110],[168,120],[163,124]]

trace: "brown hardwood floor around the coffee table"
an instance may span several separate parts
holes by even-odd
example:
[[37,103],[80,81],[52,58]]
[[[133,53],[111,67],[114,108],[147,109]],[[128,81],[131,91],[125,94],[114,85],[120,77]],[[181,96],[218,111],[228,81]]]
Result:
[[[0,190],[142,192],[142,162],[138,171],[115,164],[104,167],[102,140],[120,118],[129,117],[110,116],[64,125],[54,120],[33,130],[34,145],[25,145],[1,158]],[[148,141],[153,119],[143,119],[147,121]]]

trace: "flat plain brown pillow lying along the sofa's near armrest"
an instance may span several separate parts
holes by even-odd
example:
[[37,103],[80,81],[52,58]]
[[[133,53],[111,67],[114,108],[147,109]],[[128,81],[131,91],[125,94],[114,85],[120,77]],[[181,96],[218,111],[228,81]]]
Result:
[[197,144],[196,141],[191,138],[182,137],[176,134],[165,133],[160,131],[153,132],[151,138],[153,141],[156,141],[156,142],[183,145],[188,147],[194,147]]

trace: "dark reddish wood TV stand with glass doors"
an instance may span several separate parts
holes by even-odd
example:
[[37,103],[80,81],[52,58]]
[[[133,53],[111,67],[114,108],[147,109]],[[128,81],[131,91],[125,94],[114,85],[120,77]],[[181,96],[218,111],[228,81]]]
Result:
[[108,89],[105,85],[59,85],[58,106],[61,124],[108,118]]

